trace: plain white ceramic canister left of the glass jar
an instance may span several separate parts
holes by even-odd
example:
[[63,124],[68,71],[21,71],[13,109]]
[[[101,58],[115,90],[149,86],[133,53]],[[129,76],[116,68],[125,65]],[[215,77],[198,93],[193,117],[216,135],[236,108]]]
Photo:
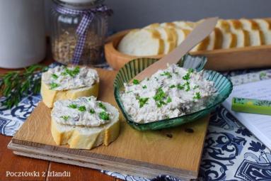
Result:
[[0,0],[0,67],[21,68],[45,58],[43,0]]

